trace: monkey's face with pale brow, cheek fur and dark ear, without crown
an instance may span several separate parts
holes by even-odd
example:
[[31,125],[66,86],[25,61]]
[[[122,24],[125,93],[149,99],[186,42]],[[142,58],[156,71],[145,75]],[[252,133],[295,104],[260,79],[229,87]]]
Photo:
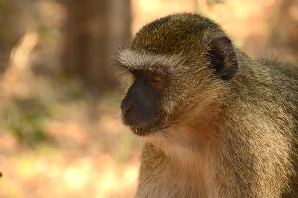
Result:
[[219,112],[224,82],[233,78],[238,63],[227,37],[210,43],[196,51],[195,60],[186,54],[120,51],[118,63],[132,77],[122,119],[133,133],[177,137],[177,128],[204,123]]

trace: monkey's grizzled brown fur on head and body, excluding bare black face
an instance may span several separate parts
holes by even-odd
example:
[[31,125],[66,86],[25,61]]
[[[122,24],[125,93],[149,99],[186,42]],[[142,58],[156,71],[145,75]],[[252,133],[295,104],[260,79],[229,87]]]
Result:
[[[160,124],[138,136],[135,198],[298,198],[298,66],[248,57],[223,36],[208,18],[174,14],[119,51],[128,71],[169,76]],[[225,57],[216,74],[212,50]]]

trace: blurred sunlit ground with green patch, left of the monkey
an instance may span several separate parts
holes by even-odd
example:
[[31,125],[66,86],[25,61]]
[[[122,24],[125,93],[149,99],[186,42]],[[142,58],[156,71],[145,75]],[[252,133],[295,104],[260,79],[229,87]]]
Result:
[[0,132],[1,198],[132,197],[140,147],[117,116],[120,92],[97,101],[82,90],[37,77],[14,101]]

